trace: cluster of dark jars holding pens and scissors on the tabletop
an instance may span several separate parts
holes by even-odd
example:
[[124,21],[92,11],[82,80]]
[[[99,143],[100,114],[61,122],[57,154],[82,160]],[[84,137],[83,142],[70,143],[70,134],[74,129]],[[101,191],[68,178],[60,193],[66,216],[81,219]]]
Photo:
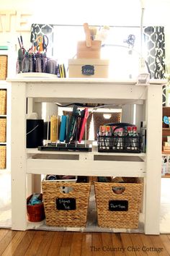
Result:
[[[39,35],[28,51],[24,48],[22,36],[18,38],[19,50],[17,57],[17,74],[26,72],[38,72],[56,74],[61,77],[60,67],[56,59],[48,58],[48,36]],[[63,76],[66,71],[63,67]]]

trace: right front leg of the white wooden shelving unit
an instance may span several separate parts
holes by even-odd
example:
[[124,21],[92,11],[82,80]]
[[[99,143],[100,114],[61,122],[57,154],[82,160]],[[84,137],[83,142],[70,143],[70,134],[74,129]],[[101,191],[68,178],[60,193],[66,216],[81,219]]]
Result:
[[159,234],[162,140],[162,88],[160,85],[148,85],[146,113],[147,148],[145,233]]

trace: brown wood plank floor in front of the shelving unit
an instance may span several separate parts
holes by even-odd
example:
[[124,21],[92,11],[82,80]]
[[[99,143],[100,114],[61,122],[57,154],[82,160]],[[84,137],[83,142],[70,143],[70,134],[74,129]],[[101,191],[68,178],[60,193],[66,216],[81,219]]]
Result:
[[12,231],[0,229],[3,256],[170,255],[170,234]]

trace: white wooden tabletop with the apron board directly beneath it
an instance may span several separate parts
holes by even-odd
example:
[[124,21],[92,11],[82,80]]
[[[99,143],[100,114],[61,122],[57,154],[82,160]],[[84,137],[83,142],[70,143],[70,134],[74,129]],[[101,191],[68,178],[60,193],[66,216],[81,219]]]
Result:
[[147,98],[148,88],[154,87],[155,90],[155,86],[166,84],[166,80],[151,80],[150,84],[138,85],[137,80],[130,79],[45,77],[14,77],[8,78],[7,82],[11,82],[12,85],[25,85],[25,97],[37,98],[37,101],[41,102],[111,104],[143,104],[143,100]]

